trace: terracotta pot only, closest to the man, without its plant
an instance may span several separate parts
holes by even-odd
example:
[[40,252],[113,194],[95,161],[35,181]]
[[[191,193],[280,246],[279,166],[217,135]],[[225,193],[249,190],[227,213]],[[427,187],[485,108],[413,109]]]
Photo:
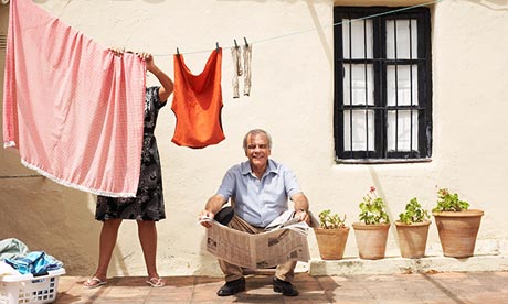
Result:
[[340,229],[314,228],[322,260],[341,260],[348,240],[349,227]]

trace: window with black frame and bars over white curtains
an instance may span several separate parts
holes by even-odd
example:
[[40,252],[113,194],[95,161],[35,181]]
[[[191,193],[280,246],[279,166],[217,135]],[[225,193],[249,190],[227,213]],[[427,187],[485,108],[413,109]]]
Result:
[[428,9],[336,7],[334,21],[337,161],[430,160]]

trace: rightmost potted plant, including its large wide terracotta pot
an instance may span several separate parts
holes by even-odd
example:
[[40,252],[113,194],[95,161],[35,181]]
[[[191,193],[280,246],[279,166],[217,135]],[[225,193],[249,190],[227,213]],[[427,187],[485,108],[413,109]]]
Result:
[[443,254],[453,258],[472,257],[481,221],[483,210],[469,209],[469,203],[461,200],[447,188],[437,191],[437,205],[432,209]]

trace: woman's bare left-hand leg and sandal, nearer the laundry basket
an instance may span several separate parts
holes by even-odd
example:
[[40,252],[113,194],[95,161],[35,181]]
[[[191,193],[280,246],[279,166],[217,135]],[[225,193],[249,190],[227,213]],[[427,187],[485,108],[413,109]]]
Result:
[[[103,222],[98,248],[98,265],[93,276],[103,282],[107,279],[107,268],[109,267],[109,261],[112,260],[113,249],[115,249],[116,246],[120,224],[121,219],[107,219]],[[91,287],[97,285],[98,283],[98,281],[88,280],[84,283],[84,285]]]

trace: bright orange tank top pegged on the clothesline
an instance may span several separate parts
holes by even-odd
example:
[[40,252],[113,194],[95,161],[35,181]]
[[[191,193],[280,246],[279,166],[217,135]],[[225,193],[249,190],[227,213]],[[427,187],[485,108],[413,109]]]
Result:
[[192,75],[181,54],[174,55],[174,91],[171,110],[177,117],[172,142],[204,148],[225,139],[222,130],[222,48],[210,55],[204,70]]

